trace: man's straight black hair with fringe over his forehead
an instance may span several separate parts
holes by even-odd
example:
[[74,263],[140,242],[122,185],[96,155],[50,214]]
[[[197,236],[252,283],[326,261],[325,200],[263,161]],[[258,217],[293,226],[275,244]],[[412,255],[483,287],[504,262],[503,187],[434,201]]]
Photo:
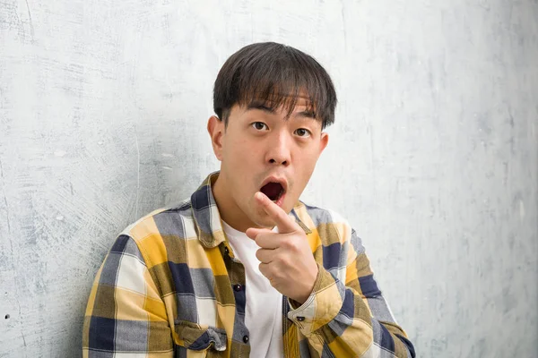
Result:
[[299,98],[307,99],[307,111],[322,128],[334,123],[336,91],[321,64],[297,48],[261,42],[239,49],[222,65],[213,88],[213,109],[228,125],[236,104],[261,101],[273,110],[284,107],[289,116]]

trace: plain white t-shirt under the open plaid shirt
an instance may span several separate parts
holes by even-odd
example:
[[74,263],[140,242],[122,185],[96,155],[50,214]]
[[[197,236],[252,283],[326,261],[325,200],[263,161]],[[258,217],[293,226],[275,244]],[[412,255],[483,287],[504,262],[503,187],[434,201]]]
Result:
[[260,247],[247,234],[224,221],[222,228],[235,257],[245,266],[245,325],[249,332],[250,356],[283,357],[282,294],[271,286],[258,268],[260,261],[256,259],[256,251]]

